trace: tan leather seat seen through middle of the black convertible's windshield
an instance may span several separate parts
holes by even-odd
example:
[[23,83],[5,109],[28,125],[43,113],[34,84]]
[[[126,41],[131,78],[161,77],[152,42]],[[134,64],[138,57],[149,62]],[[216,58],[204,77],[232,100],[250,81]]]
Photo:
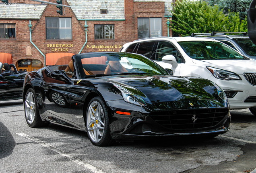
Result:
[[117,73],[125,73],[128,72],[126,68],[122,66],[120,61],[112,61],[110,60],[107,64],[104,74],[117,74]]

